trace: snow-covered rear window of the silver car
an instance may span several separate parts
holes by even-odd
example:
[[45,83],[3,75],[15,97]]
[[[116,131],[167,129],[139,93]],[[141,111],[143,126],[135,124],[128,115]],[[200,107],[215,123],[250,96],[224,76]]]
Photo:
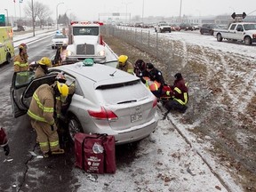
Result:
[[123,84],[107,84],[97,87],[100,95],[109,104],[134,102],[146,98],[150,94],[147,87],[141,83],[140,79]]

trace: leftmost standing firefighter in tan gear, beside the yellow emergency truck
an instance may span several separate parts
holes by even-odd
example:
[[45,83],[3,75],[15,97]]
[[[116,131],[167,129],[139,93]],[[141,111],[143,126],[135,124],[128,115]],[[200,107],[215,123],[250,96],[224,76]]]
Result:
[[19,54],[14,57],[14,72],[28,71],[28,46],[27,44],[19,45]]

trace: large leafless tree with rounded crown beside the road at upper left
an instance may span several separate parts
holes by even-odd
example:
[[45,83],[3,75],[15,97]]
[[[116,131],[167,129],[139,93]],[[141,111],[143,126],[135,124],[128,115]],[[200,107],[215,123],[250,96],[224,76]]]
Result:
[[33,18],[36,21],[36,18],[38,18],[40,22],[40,28],[44,25],[44,22],[49,19],[49,15],[52,14],[50,11],[49,6],[42,4],[40,2],[34,2],[34,18],[32,16],[32,2],[28,2],[27,6],[24,8],[24,11],[26,15],[30,18]]

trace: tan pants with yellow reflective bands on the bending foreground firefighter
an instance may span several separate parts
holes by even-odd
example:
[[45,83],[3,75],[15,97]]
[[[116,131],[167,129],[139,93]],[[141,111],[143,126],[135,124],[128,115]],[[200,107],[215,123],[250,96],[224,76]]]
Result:
[[[39,146],[43,153],[47,153],[50,150],[55,151],[60,149],[57,129],[52,131],[50,124],[36,121],[34,119],[31,119],[31,125],[36,130],[36,140],[39,142]],[[54,126],[56,125],[54,124]]]

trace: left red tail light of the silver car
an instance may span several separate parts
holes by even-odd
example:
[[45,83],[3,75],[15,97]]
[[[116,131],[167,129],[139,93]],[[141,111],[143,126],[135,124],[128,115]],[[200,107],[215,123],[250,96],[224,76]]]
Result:
[[113,111],[103,107],[100,108],[100,111],[88,110],[88,113],[90,116],[92,116],[92,118],[97,118],[100,120],[116,120],[118,118]]

